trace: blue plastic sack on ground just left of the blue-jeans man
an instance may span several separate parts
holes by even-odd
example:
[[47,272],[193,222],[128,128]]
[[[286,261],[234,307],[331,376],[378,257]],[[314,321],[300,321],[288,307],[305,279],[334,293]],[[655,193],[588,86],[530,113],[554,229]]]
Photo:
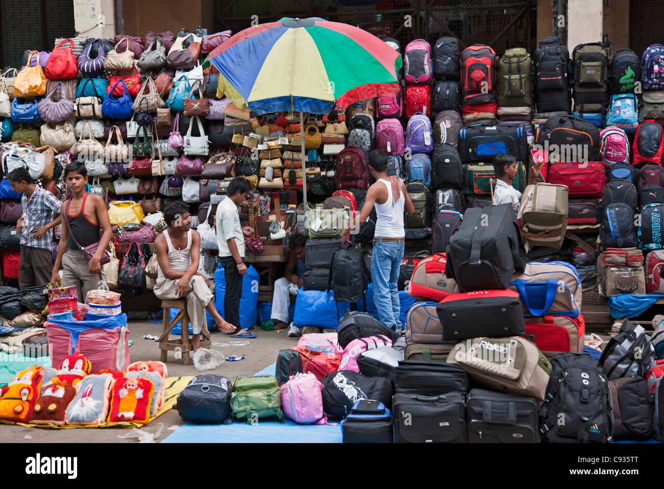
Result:
[[[293,322],[302,326],[337,329],[339,318],[351,309],[350,303],[335,303],[333,291],[299,291]],[[338,313],[337,313],[338,310]]]

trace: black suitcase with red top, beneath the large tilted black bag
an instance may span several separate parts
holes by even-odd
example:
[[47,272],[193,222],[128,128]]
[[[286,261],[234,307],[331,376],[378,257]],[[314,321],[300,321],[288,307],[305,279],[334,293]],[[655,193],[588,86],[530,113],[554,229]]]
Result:
[[436,306],[444,340],[525,333],[519,294],[509,289],[448,295]]

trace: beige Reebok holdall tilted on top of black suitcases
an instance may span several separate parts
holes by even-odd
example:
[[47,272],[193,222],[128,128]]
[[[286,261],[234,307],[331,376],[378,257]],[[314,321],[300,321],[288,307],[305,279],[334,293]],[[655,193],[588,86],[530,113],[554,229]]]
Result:
[[534,343],[520,336],[473,338],[454,346],[448,364],[463,368],[470,379],[489,389],[544,401],[551,364]]

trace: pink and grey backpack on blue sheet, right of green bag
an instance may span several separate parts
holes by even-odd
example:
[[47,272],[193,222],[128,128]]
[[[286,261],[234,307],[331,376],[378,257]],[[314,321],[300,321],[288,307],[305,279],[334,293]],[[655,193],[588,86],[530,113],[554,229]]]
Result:
[[327,423],[323,413],[323,384],[313,374],[297,374],[291,376],[282,385],[282,411],[295,423],[304,425]]

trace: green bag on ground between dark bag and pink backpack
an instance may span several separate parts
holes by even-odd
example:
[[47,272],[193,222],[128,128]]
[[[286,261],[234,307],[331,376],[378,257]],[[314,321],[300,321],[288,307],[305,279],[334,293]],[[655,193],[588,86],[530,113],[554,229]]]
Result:
[[236,418],[256,419],[276,416],[282,419],[282,393],[274,376],[240,377],[230,395],[230,409]]

